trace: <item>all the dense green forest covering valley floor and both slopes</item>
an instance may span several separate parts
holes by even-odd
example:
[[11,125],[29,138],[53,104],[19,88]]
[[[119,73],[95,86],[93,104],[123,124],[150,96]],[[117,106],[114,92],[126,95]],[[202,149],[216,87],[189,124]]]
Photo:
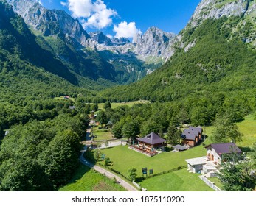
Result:
[[[107,102],[97,121],[116,138],[157,132],[173,143],[184,123],[229,128],[255,112],[256,51],[230,29],[238,21],[209,19],[182,31],[185,46],[193,40],[196,46],[185,52],[177,43],[176,54],[153,74],[103,90],[134,78],[114,71],[107,62],[114,54],[77,52],[63,34],[35,36],[0,1],[0,191],[55,191],[69,182],[96,102]],[[139,99],[151,103],[116,109],[109,103]]]

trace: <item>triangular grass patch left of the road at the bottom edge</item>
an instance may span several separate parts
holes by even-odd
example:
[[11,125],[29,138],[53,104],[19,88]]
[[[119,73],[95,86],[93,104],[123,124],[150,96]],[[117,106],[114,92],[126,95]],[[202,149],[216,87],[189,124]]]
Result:
[[103,174],[80,164],[72,180],[59,191],[125,191]]

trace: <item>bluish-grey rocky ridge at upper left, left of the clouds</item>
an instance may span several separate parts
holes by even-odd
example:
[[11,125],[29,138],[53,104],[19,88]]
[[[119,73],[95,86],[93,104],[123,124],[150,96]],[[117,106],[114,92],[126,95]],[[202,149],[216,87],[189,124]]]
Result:
[[13,10],[24,18],[24,21],[44,36],[68,36],[83,46],[89,44],[90,36],[80,23],[63,10],[47,10],[33,0],[7,0]]

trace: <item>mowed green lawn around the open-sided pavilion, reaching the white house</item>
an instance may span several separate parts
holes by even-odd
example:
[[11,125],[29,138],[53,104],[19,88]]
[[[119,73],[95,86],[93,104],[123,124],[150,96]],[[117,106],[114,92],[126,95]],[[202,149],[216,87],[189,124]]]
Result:
[[153,169],[154,174],[157,174],[179,166],[186,166],[186,159],[206,155],[206,149],[203,146],[197,146],[185,152],[162,152],[154,157],[148,157],[145,154],[128,149],[128,146],[116,146],[101,151],[106,157],[110,158],[111,168],[120,171],[126,177],[130,168],[136,168],[138,177],[142,177],[142,168]]

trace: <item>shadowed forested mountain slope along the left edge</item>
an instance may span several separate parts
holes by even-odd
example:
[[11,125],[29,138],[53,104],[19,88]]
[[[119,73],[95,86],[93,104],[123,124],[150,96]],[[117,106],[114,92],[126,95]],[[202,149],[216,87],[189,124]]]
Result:
[[103,88],[103,80],[97,83],[81,77],[51,51],[43,49],[44,43],[32,35],[7,3],[0,1],[0,102],[77,92],[86,96],[91,89]]

